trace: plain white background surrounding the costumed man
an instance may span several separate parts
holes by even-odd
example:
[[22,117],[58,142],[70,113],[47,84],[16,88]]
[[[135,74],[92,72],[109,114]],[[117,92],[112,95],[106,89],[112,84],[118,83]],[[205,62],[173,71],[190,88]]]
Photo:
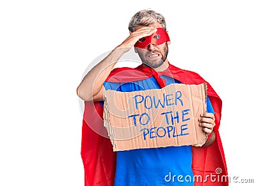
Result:
[[166,17],[170,63],[202,75],[223,100],[228,174],[256,182],[254,3],[1,1],[0,185],[84,184],[76,88],[148,8]]

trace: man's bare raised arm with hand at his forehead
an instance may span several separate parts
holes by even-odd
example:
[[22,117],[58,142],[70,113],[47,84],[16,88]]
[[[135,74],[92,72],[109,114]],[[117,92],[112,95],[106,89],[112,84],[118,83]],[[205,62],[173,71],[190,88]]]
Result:
[[82,82],[77,87],[77,95],[85,101],[101,101],[103,100],[103,83],[106,81],[111,70],[115,66],[118,59],[140,39],[156,32],[154,27],[141,27],[140,29],[130,33],[130,35],[116,47],[112,52],[104,58],[100,63],[86,74]]

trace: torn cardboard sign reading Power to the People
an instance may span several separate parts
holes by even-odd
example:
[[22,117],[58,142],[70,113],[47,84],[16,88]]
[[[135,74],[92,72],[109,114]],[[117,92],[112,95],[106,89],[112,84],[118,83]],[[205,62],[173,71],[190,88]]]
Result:
[[202,146],[199,126],[207,85],[170,84],[162,89],[104,92],[104,126],[113,151],[166,146]]

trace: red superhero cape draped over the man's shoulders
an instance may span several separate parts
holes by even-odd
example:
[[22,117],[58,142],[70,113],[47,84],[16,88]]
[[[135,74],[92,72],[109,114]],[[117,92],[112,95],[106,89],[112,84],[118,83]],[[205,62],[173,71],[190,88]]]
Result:
[[[195,72],[182,70],[173,65],[170,65],[168,70],[169,74],[170,72],[172,73],[174,79],[179,80],[183,84],[201,84],[206,82]],[[131,82],[147,79],[150,76],[152,76],[152,73],[143,72],[142,66],[137,68],[116,68],[111,72],[106,81]],[[222,102],[208,82],[207,95],[215,111],[216,126],[214,127],[214,132],[216,140],[207,148],[192,146],[193,174],[199,175],[203,179],[199,179],[199,182],[196,182],[196,178],[195,185],[228,185],[228,181],[225,182],[225,179],[223,180],[223,175],[227,175],[227,165],[218,132]],[[115,181],[116,152],[113,152],[112,144],[108,139],[108,133],[106,128],[103,127],[102,112],[103,108],[99,102],[84,103],[81,144],[81,157],[84,164],[84,185],[114,185]],[[217,173],[216,170],[221,171],[221,173]],[[213,177],[207,178],[206,175],[211,176],[211,174]],[[207,182],[204,182],[205,176]],[[214,179],[215,182],[213,182]]]

